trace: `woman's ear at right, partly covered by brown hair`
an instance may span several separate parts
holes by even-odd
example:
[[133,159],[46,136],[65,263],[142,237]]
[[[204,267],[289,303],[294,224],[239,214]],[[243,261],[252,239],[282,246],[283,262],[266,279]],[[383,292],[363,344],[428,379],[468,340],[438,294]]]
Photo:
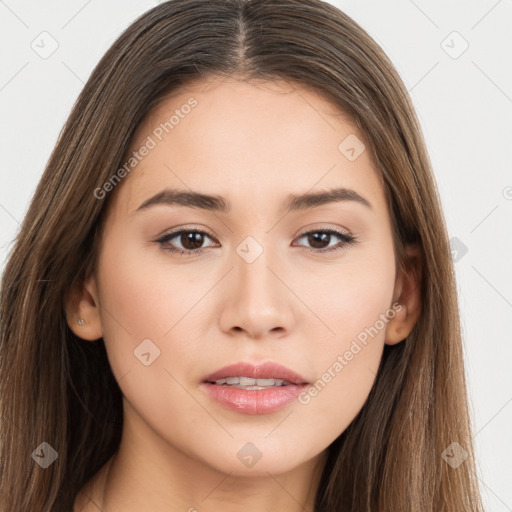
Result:
[[395,309],[395,316],[386,326],[385,343],[395,345],[403,341],[418,321],[421,311],[421,251],[416,244],[405,247],[407,256],[406,270],[399,272],[395,281],[393,304],[402,307]]

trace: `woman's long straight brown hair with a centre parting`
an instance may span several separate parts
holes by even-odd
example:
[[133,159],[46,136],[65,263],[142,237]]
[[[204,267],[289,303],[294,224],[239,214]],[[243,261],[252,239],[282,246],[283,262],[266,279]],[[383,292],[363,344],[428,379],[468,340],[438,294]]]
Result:
[[[171,0],[128,27],[81,92],[38,184],[2,278],[0,509],[69,511],[117,450],[121,392],[103,340],[66,321],[73,285],[95,271],[110,196],[136,127],[192,80],[236,76],[309,87],[347,114],[384,184],[397,268],[421,250],[422,311],[385,346],[362,410],[329,446],[316,512],[481,511],[453,263],[421,129],[376,42],[320,0]],[[58,454],[43,469],[33,451]],[[458,467],[442,454],[458,443]]]

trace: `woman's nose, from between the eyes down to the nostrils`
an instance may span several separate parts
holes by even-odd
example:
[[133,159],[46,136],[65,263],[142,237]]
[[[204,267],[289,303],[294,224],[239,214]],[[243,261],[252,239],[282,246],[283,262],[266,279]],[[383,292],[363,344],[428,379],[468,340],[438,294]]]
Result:
[[294,295],[285,271],[275,258],[263,253],[248,263],[236,252],[226,280],[220,327],[232,336],[261,339],[286,336],[293,327]]

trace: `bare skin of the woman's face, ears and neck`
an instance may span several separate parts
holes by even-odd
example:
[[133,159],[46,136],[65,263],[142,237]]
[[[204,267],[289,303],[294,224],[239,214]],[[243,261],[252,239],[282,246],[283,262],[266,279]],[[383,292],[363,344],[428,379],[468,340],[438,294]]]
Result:
[[[285,82],[196,82],[144,119],[132,151],[190,97],[197,106],[117,185],[97,273],[68,304],[84,342],[103,337],[124,396],[119,451],[74,511],[312,511],[327,447],[363,406],[384,344],[402,341],[417,321],[418,283],[395,274],[370,152],[349,161],[338,149],[349,134],[369,145],[331,103]],[[341,186],[372,208],[342,201],[281,212],[288,194]],[[131,214],[165,187],[221,195],[232,210],[158,205]],[[199,243],[202,254],[156,242],[180,227],[213,235]],[[357,243],[332,235],[314,246],[301,236],[320,228]],[[236,252],[249,235],[263,248],[252,263]],[[182,243],[178,236],[167,246]],[[408,255],[417,266],[416,248]],[[277,361],[314,383],[395,302],[401,310],[307,404],[250,416],[199,388],[237,361]],[[134,356],[146,338],[160,350],[149,366]],[[253,467],[237,457],[247,442],[261,452]]]

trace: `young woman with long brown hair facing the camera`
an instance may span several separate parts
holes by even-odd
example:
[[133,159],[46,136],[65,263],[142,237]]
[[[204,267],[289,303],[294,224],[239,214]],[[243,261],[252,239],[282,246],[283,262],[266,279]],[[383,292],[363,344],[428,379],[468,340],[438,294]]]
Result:
[[482,510],[419,123],[328,3],[136,20],[51,155],[0,329],[3,512]]

